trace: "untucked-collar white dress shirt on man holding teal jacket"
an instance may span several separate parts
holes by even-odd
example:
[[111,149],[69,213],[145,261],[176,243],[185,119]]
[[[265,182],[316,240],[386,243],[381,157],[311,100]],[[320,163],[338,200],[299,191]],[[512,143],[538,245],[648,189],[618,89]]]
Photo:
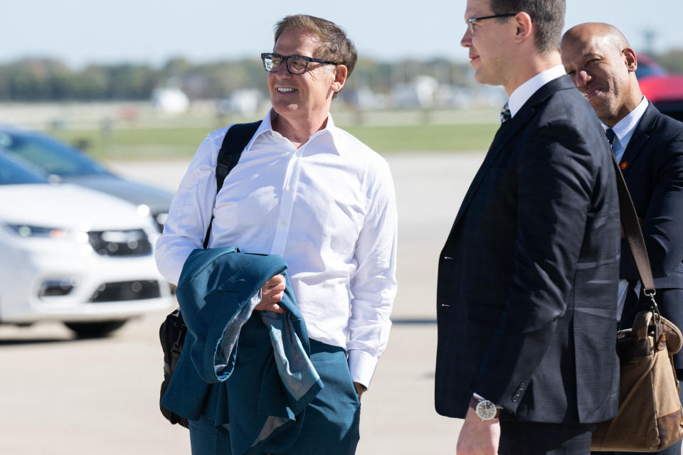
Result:
[[[266,115],[216,195],[227,128],[208,134],[182,179],[157,265],[177,283],[211,226],[208,247],[280,255],[310,338],[346,348],[351,378],[369,385],[388,341],[396,296],[396,196],[386,161],[334,126],[298,149]],[[216,203],[214,205],[214,196]]]

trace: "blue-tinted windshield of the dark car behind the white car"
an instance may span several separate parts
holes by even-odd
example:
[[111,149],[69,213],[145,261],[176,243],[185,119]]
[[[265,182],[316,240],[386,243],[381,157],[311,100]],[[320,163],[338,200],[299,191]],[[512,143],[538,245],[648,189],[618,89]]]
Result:
[[0,131],[0,147],[48,174],[87,176],[109,173],[78,149],[42,134]]

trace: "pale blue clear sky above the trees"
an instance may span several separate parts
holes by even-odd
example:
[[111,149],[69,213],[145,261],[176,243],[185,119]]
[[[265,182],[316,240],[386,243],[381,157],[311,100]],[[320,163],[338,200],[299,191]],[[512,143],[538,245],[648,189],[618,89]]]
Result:
[[[467,60],[459,42],[465,0],[293,2],[253,0],[0,0],[0,62],[55,57],[85,63],[194,62],[253,56],[272,48],[287,14],[328,18],[346,28],[361,56],[379,60],[442,55]],[[568,0],[566,28],[604,21],[636,50],[655,32],[655,50],[683,48],[682,0]]]

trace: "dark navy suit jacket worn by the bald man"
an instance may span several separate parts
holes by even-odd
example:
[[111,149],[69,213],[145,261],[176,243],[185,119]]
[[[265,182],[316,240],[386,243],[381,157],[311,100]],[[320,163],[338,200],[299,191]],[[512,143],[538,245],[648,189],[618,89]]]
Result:
[[[648,105],[628,142],[620,167],[635,210],[642,218],[647,256],[655,279],[662,316],[683,327],[683,123]],[[626,240],[622,241],[620,278],[637,283],[638,274]],[[647,306],[643,297],[627,299],[623,326],[630,327],[633,316]],[[683,368],[683,353],[675,356],[677,368]]]

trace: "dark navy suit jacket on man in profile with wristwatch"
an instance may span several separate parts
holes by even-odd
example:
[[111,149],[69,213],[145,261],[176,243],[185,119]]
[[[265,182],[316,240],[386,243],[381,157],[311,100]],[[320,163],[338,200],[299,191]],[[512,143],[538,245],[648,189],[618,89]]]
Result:
[[611,150],[568,76],[502,125],[439,258],[435,403],[600,422],[618,408],[620,223]]

